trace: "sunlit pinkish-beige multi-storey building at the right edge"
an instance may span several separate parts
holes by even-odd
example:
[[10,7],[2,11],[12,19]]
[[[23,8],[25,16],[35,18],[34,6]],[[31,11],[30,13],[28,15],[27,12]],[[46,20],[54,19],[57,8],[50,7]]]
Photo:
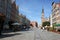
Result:
[[60,3],[52,3],[52,23],[60,24]]

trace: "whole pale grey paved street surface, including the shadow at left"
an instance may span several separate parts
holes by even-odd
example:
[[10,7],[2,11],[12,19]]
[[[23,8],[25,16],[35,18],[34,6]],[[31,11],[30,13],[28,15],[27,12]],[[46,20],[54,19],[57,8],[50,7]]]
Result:
[[60,40],[60,34],[32,28],[30,31],[4,33],[0,40]]

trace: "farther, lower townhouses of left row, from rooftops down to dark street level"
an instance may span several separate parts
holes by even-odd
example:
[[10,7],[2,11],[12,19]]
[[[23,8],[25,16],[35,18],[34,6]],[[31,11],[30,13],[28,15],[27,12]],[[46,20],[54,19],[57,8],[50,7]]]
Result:
[[19,20],[21,30],[30,28],[30,20],[25,15],[19,14]]

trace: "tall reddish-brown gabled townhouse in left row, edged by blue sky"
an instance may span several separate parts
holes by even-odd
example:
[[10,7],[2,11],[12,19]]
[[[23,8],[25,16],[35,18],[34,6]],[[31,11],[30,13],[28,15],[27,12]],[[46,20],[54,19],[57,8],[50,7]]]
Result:
[[15,1],[12,3],[12,9],[11,9],[11,21],[19,22],[19,11],[18,6],[16,5]]

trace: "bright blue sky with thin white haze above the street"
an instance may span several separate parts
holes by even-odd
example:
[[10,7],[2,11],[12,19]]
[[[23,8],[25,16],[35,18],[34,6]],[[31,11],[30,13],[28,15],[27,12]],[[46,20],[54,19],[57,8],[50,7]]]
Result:
[[52,2],[59,2],[60,0],[16,0],[19,6],[20,14],[25,15],[30,21],[36,21],[41,24],[42,8],[44,8],[44,15],[46,18],[52,13]]

